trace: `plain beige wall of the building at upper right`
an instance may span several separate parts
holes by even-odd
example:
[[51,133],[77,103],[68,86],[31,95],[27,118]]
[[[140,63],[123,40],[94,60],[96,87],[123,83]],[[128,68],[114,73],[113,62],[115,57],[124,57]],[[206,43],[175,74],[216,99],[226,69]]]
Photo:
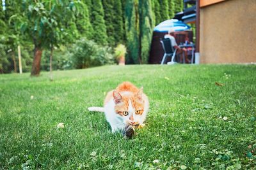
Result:
[[200,8],[200,63],[256,62],[256,0]]

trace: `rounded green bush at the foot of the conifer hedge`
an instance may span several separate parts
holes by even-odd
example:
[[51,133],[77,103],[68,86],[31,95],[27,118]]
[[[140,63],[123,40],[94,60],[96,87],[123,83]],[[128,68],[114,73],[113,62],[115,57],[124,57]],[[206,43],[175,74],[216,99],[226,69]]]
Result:
[[77,69],[113,64],[112,49],[100,46],[92,40],[81,38],[72,48],[72,60]]

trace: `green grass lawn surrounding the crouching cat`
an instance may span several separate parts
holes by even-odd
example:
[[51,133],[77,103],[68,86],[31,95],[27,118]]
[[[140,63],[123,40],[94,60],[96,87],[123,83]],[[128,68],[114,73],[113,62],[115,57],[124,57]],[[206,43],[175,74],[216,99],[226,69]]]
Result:
[[[150,100],[131,140],[87,111],[122,81]],[[0,169],[253,169],[255,97],[255,65],[104,66],[55,71],[54,81],[2,74]]]

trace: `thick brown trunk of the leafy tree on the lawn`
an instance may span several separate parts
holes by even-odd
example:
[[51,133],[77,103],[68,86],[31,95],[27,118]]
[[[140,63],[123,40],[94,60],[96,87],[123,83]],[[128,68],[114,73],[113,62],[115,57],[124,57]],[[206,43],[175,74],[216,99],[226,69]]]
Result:
[[40,62],[41,62],[42,52],[43,50],[40,47],[35,46],[34,60],[33,60],[30,76],[39,76],[40,74]]

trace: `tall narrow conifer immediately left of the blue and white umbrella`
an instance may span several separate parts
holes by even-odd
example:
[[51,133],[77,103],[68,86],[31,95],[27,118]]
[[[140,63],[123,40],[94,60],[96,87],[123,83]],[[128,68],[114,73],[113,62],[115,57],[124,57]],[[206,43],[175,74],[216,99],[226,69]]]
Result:
[[154,27],[151,8],[151,1],[140,0],[140,56],[142,64],[148,63],[148,55]]

